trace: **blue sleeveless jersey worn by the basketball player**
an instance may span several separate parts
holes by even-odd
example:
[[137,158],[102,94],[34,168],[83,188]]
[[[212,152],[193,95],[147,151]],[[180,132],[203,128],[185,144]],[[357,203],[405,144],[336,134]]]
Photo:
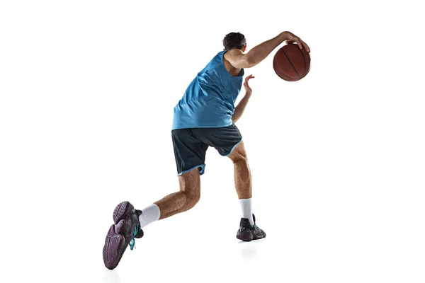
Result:
[[244,69],[232,76],[219,52],[198,73],[174,108],[172,129],[227,127],[232,125],[234,102],[242,87]]

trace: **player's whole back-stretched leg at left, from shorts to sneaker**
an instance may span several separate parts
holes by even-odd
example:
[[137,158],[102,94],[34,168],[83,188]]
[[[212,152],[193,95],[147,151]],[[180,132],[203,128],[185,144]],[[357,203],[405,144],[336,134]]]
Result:
[[134,248],[134,238],[143,236],[143,227],[153,221],[186,212],[200,198],[200,175],[204,171],[208,145],[196,139],[191,129],[174,130],[172,137],[180,191],[167,195],[141,211],[134,209],[130,202],[121,202],[115,207],[115,224],[109,229],[103,246],[103,262],[110,270],[118,265],[128,245]]

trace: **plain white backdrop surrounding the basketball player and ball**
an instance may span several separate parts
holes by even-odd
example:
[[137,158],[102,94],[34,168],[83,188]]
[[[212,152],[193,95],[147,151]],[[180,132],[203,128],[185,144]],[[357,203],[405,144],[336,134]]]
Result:
[[[1,1],[1,282],[424,282],[424,31],[419,1]],[[237,123],[268,237],[239,243],[232,163],[209,149],[201,200],[145,229],[118,268],[115,205],[178,190],[174,105],[232,31],[290,30],[246,75]],[[242,98],[242,91],[240,98]]]

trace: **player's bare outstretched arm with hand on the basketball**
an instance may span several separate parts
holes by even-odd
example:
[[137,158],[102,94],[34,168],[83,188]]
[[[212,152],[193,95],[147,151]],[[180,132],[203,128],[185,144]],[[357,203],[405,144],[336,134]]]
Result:
[[310,52],[310,48],[300,39],[300,37],[285,31],[280,33],[278,36],[273,37],[271,40],[267,40],[260,45],[257,45],[246,54],[244,54],[242,50],[229,50],[229,52],[225,53],[225,59],[237,69],[251,68],[256,64],[259,64],[263,61],[263,59],[266,59],[268,54],[281,45],[285,40],[296,42],[300,49],[304,47],[307,52]]

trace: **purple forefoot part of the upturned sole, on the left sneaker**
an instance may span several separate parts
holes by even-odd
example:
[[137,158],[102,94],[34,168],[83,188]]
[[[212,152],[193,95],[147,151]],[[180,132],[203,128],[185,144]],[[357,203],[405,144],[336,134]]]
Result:
[[113,270],[117,267],[128,243],[126,243],[125,237],[118,233],[115,233],[115,225],[112,225],[106,235],[105,246],[103,246],[103,263],[105,263],[108,270]]

